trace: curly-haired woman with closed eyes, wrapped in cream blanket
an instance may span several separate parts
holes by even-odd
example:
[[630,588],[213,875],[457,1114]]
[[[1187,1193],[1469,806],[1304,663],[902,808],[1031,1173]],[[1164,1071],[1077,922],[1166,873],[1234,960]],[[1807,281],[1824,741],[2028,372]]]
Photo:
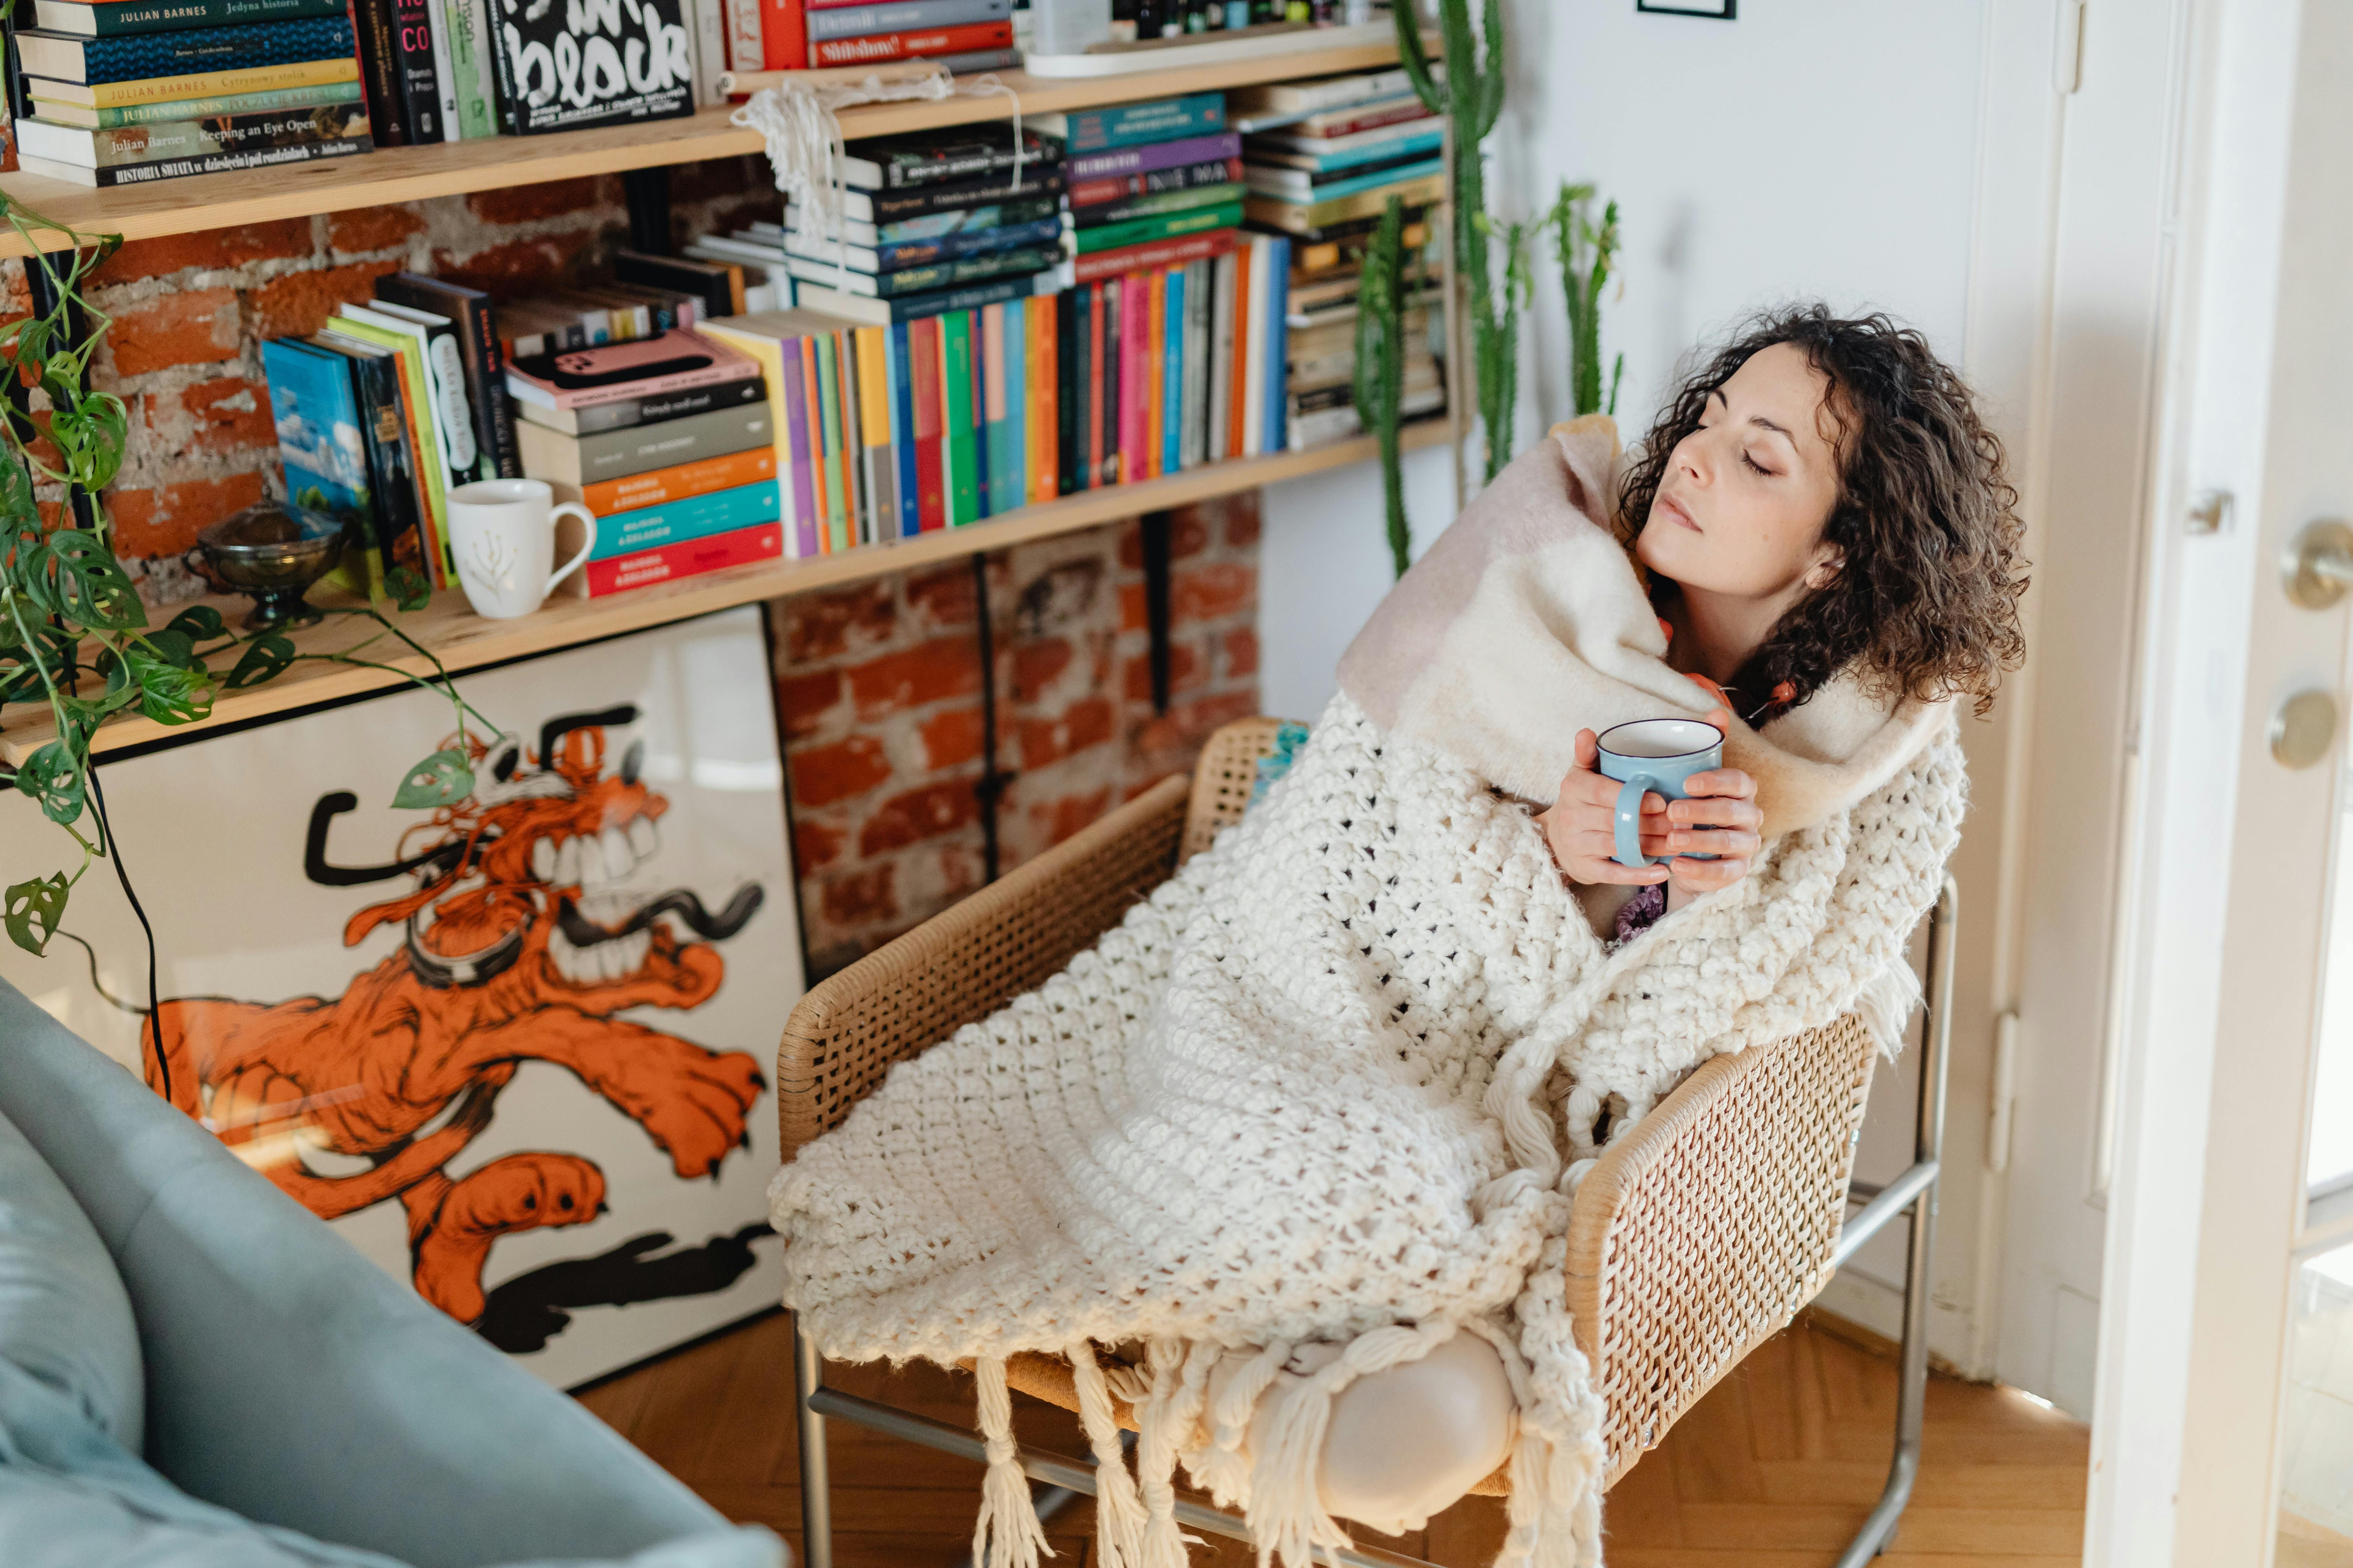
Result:
[[[2024,590],[2000,442],[1885,317],[1758,320],[1617,468],[1600,418],[1520,454],[1240,823],[779,1173],[821,1354],[974,1366],[976,1563],[1042,1552],[1007,1387],[1049,1359],[1106,1568],[1181,1568],[1179,1465],[1287,1568],[1499,1469],[1499,1563],[1598,1561],[1657,1434],[1577,1345],[1577,1185],[1713,1056],[1894,1046]],[[1595,736],[1701,715],[1722,766],[1619,863]]]

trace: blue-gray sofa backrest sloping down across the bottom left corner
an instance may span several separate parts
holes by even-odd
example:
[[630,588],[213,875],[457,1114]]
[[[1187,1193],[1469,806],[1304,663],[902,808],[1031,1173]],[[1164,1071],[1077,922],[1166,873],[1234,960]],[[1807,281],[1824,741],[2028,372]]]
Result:
[[[7,1168],[16,1175],[0,1178],[0,1204],[38,1208],[42,1190],[54,1194],[24,1154],[28,1143],[87,1215],[127,1291],[144,1368],[141,1458],[198,1500],[191,1507],[214,1526],[221,1516],[200,1505],[414,1568],[631,1556],[664,1568],[786,1561],[774,1535],[732,1528],[572,1399],[360,1258],[7,983],[0,1117],[24,1135],[12,1140],[16,1164]],[[21,1215],[14,1225],[26,1229]],[[85,1272],[104,1272],[94,1260],[85,1241]],[[14,1267],[0,1288],[42,1288],[38,1255],[31,1272],[24,1258]],[[7,1309],[0,1300],[0,1331]],[[104,1316],[89,1312],[92,1321]],[[89,1338],[104,1335],[92,1328]],[[19,1392],[33,1389],[35,1403],[61,1382],[52,1375],[33,1387],[24,1368],[5,1371],[19,1378]],[[136,1382],[127,1396],[136,1432]],[[9,1460],[19,1476],[40,1472],[40,1443],[9,1448],[7,1439],[0,1429],[0,1476]],[[87,1448],[106,1439],[92,1432],[75,1441]],[[118,1469],[139,1467],[125,1458]],[[169,1497],[169,1488],[155,1490]],[[24,1561],[5,1537],[0,1559]]]

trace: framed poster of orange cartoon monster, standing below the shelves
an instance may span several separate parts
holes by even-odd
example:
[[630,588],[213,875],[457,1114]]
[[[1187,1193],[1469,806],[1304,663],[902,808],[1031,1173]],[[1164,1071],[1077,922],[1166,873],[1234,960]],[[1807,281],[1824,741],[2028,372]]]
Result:
[[[758,609],[108,762],[120,889],[0,973],[572,1387],[774,1305],[802,990]],[[464,745],[471,788],[391,804]]]

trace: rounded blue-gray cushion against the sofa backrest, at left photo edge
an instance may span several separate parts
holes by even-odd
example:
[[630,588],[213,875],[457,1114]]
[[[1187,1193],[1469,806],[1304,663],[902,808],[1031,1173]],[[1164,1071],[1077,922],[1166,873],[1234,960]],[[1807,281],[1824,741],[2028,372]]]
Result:
[[132,1300],[82,1206],[7,1117],[0,1117],[0,1359],[139,1450],[146,1420]]

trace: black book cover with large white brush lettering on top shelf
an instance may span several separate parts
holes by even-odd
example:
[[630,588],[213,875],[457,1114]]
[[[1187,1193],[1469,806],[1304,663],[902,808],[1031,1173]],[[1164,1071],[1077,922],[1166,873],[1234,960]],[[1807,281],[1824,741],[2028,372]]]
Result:
[[694,113],[685,0],[489,0],[489,7],[506,134]]

